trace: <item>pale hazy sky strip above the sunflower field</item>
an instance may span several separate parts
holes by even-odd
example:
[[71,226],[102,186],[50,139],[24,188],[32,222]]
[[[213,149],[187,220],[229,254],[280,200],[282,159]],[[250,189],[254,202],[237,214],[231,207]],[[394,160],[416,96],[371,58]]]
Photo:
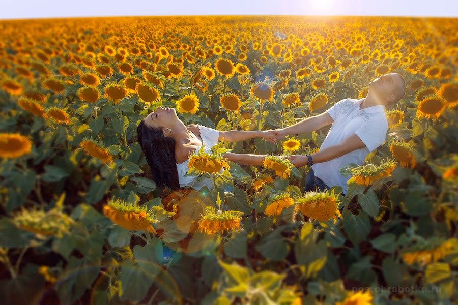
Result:
[[458,1],[2,0],[0,11],[0,19],[172,15],[357,15],[458,18]]

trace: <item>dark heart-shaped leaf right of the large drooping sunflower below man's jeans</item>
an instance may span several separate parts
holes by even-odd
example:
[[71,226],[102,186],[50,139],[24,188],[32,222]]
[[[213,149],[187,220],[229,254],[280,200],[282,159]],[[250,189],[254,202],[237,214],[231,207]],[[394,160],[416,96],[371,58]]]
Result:
[[364,211],[360,211],[359,215],[353,215],[351,211],[345,211],[342,214],[342,225],[350,241],[355,246],[366,240],[370,232],[369,217]]

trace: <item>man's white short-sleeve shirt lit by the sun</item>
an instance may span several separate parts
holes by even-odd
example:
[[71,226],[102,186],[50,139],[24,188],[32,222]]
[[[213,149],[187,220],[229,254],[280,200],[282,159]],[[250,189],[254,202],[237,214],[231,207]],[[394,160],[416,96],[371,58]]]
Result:
[[359,109],[363,100],[364,98],[359,100],[344,99],[335,103],[326,111],[332,117],[334,123],[332,123],[320,150],[336,145],[353,134],[356,134],[366,147],[311,166],[316,177],[322,179],[328,187],[342,187],[342,193],[344,194],[347,194],[347,181],[350,176],[340,174],[339,168],[349,163],[363,165],[366,156],[385,142],[388,131],[385,107],[383,105],[375,105]]

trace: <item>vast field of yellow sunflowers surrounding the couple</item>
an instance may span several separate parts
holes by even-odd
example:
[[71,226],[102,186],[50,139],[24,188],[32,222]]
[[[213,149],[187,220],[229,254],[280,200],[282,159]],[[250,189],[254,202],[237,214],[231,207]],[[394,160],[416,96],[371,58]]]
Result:
[[[458,19],[0,21],[3,304],[458,302]],[[159,105],[220,131],[286,127],[402,74],[348,192],[304,192],[329,127],[200,151],[214,187],[158,188],[136,139]],[[222,153],[268,155],[262,166]],[[219,171],[222,170],[222,173]]]

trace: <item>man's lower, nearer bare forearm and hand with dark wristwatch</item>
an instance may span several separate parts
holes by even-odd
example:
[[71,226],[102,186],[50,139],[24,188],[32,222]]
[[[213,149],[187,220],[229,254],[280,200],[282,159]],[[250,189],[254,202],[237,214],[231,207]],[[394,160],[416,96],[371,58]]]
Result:
[[[348,138],[345,138],[343,141],[336,145],[332,145],[317,151],[317,153],[311,154],[313,163],[322,163],[326,162],[345,154],[350,153],[350,151],[361,149],[366,147],[366,145],[361,141],[361,139],[353,134]],[[296,167],[302,167],[307,164],[308,158],[304,155],[294,155],[288,157],[291,163]]]

